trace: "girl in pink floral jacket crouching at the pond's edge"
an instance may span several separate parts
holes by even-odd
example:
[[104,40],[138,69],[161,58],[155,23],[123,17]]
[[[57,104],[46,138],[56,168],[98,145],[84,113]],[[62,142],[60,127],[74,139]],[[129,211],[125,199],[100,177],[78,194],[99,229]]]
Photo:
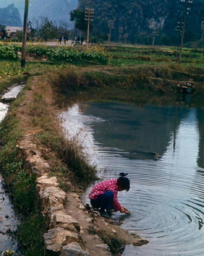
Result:
[[118,202],[118,191],[130,189],[130,181],[127,177],[128,174],[121,172],[118,179],[104,180],[96,184],[90,194],[91,206],[98,209],[102,217],[109,217],[111,212],[119,211],[125,213],[126,207],[121,206]]

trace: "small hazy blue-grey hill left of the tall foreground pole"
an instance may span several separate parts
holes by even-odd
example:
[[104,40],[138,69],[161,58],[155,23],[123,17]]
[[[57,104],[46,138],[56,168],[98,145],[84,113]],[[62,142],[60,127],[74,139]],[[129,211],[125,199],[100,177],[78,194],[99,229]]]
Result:
[[7,26],[22,26],[20,14],[14,4],[0,8],[0,24]]

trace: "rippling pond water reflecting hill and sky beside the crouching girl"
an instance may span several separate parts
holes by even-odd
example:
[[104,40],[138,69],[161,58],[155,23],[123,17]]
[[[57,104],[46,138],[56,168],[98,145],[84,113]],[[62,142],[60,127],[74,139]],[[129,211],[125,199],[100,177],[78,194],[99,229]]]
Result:
[[204,255],[204,109],[81,99],[63,119],[102,177],[128,173],[130,191],[118,198],[131,215],[113,218],[149,243],[123,255]]

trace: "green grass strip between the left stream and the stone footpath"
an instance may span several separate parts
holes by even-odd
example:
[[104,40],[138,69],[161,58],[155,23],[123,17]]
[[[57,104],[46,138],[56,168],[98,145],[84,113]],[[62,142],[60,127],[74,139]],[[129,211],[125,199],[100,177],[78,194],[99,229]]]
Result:
[[26,89],[29,89],[29,86],[25,87],[17,100],[11,104],[9,113],[0,124],[0,169],[4,187],[19,217],[17,230],[11,235],[17,239],[24,255],[43,256],[43,234],[47,225],[34,208],[36,177],[25,171],[24,157],[16,147],[24,131],[15,109],[22,101]]

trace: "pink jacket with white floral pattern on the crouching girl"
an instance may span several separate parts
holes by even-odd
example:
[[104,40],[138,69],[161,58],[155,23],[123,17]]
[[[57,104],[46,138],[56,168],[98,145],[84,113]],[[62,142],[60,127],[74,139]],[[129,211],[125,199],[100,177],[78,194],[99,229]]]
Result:
[[115,212],[120,210],[120,204],[118,202],[118,181],[116,179],[104,180],[96,184],[90,194],[89,199],[96,199],[100,194],[106,191],[113,192],[113,209]]

